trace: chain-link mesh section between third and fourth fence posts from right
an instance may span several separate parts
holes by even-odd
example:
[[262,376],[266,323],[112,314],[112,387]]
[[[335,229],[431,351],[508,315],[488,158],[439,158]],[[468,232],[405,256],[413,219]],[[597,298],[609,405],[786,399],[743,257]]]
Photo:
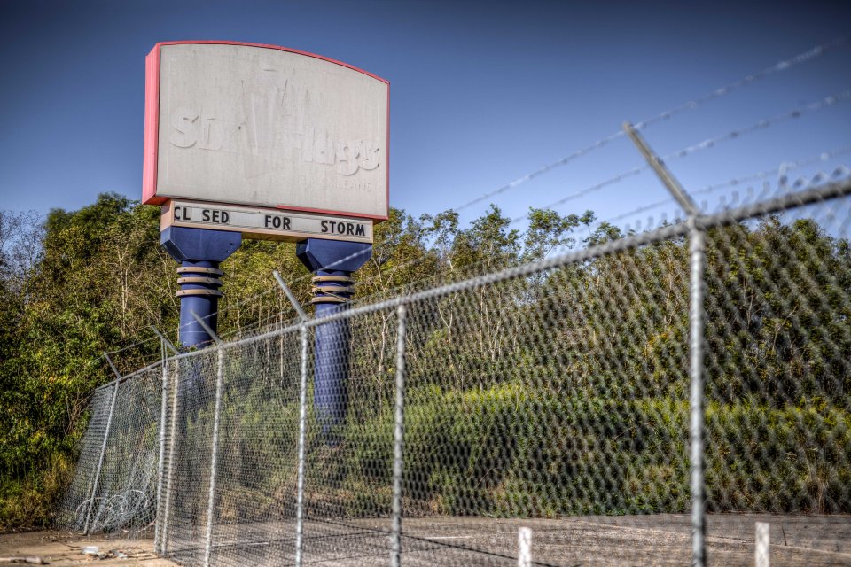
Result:
[[299,439],[298,333],[223,351],[215,557],[293,563]]

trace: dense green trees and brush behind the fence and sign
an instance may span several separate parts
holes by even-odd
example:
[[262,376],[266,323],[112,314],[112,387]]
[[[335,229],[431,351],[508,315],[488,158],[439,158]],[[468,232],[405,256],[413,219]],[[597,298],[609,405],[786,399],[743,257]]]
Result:
[[[623,236],[603,224],[580,240],[589,212],[532,209],[529,220],[511,229],[494,206],[462,228],[452,212],[394,210],[358,297]],[[154,207],[116,195],[43,220],[0,215],[0,528],[51,521],[91,392],[111,379],[100,353],[152,338],[149,325],[176,328],[176,264],[158,224]],[[774,218],[717,229],[709,244],[710,507],[851,511],[851,247],[815,221]],[[308,301],[293,245],[246,241],[223,269],[224,335],[290,316],[280,294],[264,294],[273,269]],[[670,241],[412,307],[409,513],[686,509],[687,283],[686,245]],[[359,514],[390,497],[394,324],[374,317],[369,332],[355,326],[355,402],[341,432],[352,449],[322,458],[319,447],[312,465]],[[129,372],[158,349],[151,340],[114,358]],[[225,403],[224,445],[252,472],[235,475],[226,509],[259,514],[292,489],[289,471],[259,466],[294,448],[282,433],[294,402],[269,408],[275,387],[247,381]]]

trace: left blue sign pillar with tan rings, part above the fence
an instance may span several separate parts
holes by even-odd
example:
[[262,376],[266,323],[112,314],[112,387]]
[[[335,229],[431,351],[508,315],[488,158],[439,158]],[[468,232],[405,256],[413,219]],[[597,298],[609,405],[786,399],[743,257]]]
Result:
[[181,263],[177,268],[180,291],[179,340],[184,348],[207,346],[212,337],[192,317],[198,315],[216,330],[216,313],[222,297],[224,272],[219,264],[242,244],[242,235],[226,230],[168,227],[160,233],[160,243],[172,258]]

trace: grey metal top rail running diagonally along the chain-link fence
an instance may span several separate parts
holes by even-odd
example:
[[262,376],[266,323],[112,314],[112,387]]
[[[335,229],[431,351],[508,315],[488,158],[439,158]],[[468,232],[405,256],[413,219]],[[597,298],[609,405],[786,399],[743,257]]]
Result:
[[[529,262],[520,266],[505,268],[503,270],[490,274],[474,276],[462,280],[460,282],[447,283],[445,285],[441,285],[439,287],[435,287],[429,290],[417,291],[408,295],[398,295],[392,299],[386,299],[384,301],[379,301],[360,307],[353,307],[351,309],[340,311],[331,315],[325,315],[323,317],[309,319],[308,321],[294,322],[289,325],[286,325],[285,327],[281,327],[280,329],[269,330],[267,332],[254,335],[252,337],[240,338],[233,342],[223,343],[221,346],[219,346],[219,348],[228,349],[238,346],[250,345],[254,342],[262,341],[268,338],[279,337],[288,333],[295,333],[301,330],[302,328],[316,327],[318,325],[323,325],[328,322],[349,319],[359,315],[369,315],[371,313],[377,313],[379,311],[393,309],[403,304],[417,303],[418,301],[424,301],[427,299],[436,299],[446,295],[450,295],[452,293],[457,293],[459,291],[468,291],[484,285],[499,283],[517,277],[531,276],[533,274],[546,271],[548,269],[561,268],[569,264],[594,260],[596,258],[608,254],[631,250],[640,246],[652,244],[654,242],[660,242],[662,240],[668,240],[670,238],[684,237],[688,235],[689,231],[691,230],[691,223],[693,223],[693,225],[698,229],[714,229],[722,226],[729,226],[730,224],[735,224],[741,221],[747,221],[749,219],[753,219],[765,214],[778,213],[800,206],[808,206],[819,202],[829,201],[835,198],[845,197],[849,194],[851,194],[851,179],[824,183],[808,190],[800,190],[793,193],[780,195],[775,198],[769,198],[767,200],[758,203],[753,203],[750,205],[739,206],[737,208],[722,211],[720,213],[699,214],[698,216],[693,217],[691,221],[683,220],[676,224],[659,227],[657,229],[648,230],[647,232],[632,235],[629,237],[619,238],[618,240],[612,240],[599,245],[589,246],[588,248],[583,248],[582,250],[566,252],[563,254],[559,254],[558,256],[553,256],[552,258],[536,260],[534,262]],[[201,353],[207,352],[207,349],[201,349],[189,353],[179,353],[168,357],[167,359],[165,359],[165,361],[176,361],[179,359],[190,358],[192,356],[197,356]],[[154,362],[153,364],[144,367],[144,369],[139,369],[136,372],[133,372],[132,374],[127,375],[126,377],[123,377],[121,381],[127,380],[130,377],[134,377],[139,373],[144,372],[144,370],[151,369],[159,365],[160,363],[162,363],[162,361]],[[119,380],[113,380],[113,382],[104,384],[99,387],[104,388],[117,381]]]

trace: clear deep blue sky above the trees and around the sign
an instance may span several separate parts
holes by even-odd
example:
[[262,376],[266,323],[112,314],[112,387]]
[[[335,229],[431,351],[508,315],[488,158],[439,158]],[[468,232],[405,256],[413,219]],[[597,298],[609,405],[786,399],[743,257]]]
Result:
[[[103,191],[140,197],[144,56],[158,41],[272,43],[386,78],[391,204],[421,214],[495,190],[623,120],[649,118],[847,35],[847,6],[0,0],[0,207],[74,209]],[[846,43],[645,135],[664,154],[851,89],[849,71]],[[697,188],[851,145],[849,127],[851,101],[842,101],[669,165]],[[522,215],[642,163],[621,138],[463,218],[489,201]],[[665,197],[644,174],[558,210],[592,208],[606,218]]]

